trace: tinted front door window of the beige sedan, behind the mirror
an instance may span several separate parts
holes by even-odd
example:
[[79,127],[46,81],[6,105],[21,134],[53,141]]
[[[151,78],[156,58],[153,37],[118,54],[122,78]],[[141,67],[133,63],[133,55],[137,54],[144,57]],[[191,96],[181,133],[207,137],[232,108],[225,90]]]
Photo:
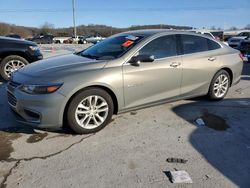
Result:
[[177,55],[175,35],[154,39],[146,44],[139,54],[153,55],[156,59]]

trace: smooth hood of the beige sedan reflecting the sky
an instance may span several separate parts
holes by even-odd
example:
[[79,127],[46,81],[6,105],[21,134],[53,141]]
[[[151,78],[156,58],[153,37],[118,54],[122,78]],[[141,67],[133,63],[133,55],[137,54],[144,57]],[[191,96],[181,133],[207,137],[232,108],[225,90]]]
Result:
[[75,54],[56,56],[29,64],[18,70],[16,74],[32,77],[56,77],[90,69],[100,69],[105,61],[93,60]]

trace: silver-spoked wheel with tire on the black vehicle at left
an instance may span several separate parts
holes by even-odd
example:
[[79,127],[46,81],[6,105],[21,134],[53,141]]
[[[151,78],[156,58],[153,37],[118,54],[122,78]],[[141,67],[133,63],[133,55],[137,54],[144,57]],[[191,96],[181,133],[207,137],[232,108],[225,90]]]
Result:
[[23,57],[10,55],[2,60],[0,64],[0,74],[3,79],[9,80],[13,72],[17,71],[27,64],[29,64],[29,62]]

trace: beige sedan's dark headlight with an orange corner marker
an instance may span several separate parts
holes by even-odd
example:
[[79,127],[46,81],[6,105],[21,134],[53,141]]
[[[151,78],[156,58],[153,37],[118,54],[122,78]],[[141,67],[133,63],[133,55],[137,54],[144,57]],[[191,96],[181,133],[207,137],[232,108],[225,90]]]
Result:
[[58,90],[62,84],[22,85],[20,90],[29,94],[49,94]]

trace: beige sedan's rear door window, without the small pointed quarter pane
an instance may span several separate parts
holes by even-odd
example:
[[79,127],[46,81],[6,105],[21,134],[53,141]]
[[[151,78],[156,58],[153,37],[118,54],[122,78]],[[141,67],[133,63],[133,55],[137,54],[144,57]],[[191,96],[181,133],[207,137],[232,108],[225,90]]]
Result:
[[208,50],[207,39],[193,35],[181,35],[184,54]]

